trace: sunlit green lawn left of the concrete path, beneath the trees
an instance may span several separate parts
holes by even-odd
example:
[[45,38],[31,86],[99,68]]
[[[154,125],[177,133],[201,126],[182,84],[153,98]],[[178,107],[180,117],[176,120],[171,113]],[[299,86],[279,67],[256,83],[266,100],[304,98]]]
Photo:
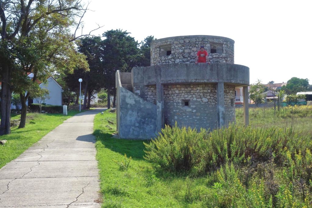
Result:
[[[64,120],[79,113],[79,111],[68,111],[63,114],[38,114],[28,113],[25,128],[11,128],[11,134],[3,135],[0,140],[7,140],[7,143],[0,145],[0,168],[17,158],[32,144],[36,143],[43,136],[63,123]],[[20,119],[21,115],[12,114],[11,120]]]

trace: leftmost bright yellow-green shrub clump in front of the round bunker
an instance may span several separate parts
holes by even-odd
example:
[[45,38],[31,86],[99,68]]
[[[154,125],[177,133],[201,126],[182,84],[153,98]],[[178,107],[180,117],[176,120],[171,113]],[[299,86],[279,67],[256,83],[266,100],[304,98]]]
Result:
[[203,137],[205,130],[197,133],[196,129],[176,125],[171,128],[166,125],[162,134],[149,144],[144,143],[147,151],[145,159],[158,164],[169,172],[185,172],[200,163],[199,155],[205,149]]

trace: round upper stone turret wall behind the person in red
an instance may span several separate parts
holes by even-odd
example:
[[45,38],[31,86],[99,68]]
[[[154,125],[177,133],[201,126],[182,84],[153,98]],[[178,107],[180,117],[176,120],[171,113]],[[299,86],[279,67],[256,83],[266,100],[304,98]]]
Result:
[[205,46],[212,63],[234,64],[234,41],[220,36],[177,36],[151,44],[151,65],[194,63],[200,46]]

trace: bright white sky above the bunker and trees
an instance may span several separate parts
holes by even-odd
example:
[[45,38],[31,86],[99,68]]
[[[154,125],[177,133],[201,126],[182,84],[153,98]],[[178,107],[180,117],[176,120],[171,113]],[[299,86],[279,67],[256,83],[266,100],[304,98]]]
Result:
[[[86,0],[85,0],[86,1]],[[235,41],[235,64],[250,68],[250,83],[308,78],[312,84],[310,1],[92,0],[85,33],[111,29],[130,32],[137,41],[185,35],[214,35]]]

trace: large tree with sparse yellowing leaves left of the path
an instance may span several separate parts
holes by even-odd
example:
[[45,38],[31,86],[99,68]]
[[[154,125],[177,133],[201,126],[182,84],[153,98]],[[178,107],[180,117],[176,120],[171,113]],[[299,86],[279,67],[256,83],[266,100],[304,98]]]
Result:
[[[13,89],[20,75],[27,72],[47,74],[52,69],[72,69],[73,65],[87,68],[84,56],[75,53],[75,34],[87,8],[80,0],[0,0],[0,75],[1,124],[0,135],[10,133],[10,106]],[[76,31],[77,31],[76,29]],[[76,62],[76,63],[75,63]],[[33,80],[36,80],[34,77]],[[26,90],[27,91],[27,90]],[[21,93],[21,98],[22,98]],[[23,106],[22,106],[23,108]],[[26,114],[23,113],[23,117]]]

